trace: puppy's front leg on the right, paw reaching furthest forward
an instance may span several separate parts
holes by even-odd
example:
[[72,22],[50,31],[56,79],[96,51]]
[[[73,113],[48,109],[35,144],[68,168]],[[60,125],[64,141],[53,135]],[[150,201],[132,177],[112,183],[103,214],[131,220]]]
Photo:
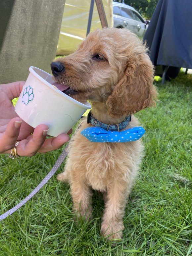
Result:
[[124,208],[128,194],[126,187],[126,184],[114,183],[108,189],[107,196],[105,196],[105,210],[102,218],[101,233],[109,240],[122,237],[122,231],[124,230]]

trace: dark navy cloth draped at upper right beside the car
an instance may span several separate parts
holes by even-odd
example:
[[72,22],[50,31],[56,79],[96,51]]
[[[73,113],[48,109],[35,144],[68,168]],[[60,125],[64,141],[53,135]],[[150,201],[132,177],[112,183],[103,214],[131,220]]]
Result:
[[143,40],[155,66],[192,69],[192,0],[159,0]]

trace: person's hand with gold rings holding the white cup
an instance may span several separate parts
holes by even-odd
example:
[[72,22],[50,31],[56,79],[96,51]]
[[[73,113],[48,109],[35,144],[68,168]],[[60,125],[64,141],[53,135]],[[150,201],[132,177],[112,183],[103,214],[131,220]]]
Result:
[[46,153],[60,148],[69,141],[67,134],[46,138],[49,129],[47,125],[39,125],[34,129],[15,112],[12,99],[19,97],[24,83],[0,85],[0,153],[10,153],[16,140],[21,140],[17,146],[20,156],[33,156],[37,152]]

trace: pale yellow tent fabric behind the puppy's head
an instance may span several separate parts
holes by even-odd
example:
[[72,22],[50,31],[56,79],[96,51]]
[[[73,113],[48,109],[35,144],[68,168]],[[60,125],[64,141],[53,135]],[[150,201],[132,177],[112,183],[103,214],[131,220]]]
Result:
[[[112,0],[103,0],[108,26],[113,27]],[[66,0],[61,30],[57,46],[57,55],[68,55],[74,52],[85,39],[90,11],[90,0]],[[90,31],[102,28],[97,6],[94,3]]]

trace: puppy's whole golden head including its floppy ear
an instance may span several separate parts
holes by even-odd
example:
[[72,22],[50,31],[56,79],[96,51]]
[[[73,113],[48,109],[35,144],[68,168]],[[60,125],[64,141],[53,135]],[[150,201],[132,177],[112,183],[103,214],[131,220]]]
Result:
[[[148,103],[146,100],[152,94],[156,96],[153,66],[146,49],[127,29],[106,28],[90,33],[75,53],[57,59],[51,69],[66,94],[78,101],[106,102],[112,116],[152,105],[153,99]],[[141,79],[144,81],[139,82]],[[143,99],[141,93],[145,94]],[[133,100],[142,102],[131,106]]]

